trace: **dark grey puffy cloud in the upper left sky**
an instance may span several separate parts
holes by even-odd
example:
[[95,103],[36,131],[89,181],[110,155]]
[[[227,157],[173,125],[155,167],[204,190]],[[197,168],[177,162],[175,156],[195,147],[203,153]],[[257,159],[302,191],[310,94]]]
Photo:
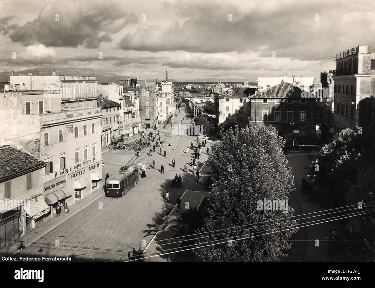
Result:
[[[55,21],[56,14],[60,21]],[[111,35],[137,22],[133,12],[123,11],[112,1],[69,0],[64,5],[56,1],[46,4],[36,19],[10,33],[10,39],[25,46],[98,48],[101,42],[111,42]]]

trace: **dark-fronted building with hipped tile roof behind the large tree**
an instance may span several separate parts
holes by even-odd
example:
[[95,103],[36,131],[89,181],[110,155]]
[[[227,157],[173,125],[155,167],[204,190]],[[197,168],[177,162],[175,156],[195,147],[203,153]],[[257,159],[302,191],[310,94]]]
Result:
[[289,143],[296,139],[297,145],[311,144],[315,140],[317,102],[309,96],[300,87],[282,81],[249,96],[249,122],[275,127]]

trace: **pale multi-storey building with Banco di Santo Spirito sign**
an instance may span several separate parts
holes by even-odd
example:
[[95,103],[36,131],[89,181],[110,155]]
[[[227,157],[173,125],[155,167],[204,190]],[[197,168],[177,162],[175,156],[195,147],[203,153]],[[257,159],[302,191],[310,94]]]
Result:
[[8,90],[0,100],[3,143],[47,163],[43,191],[51,208],[74,204],[98,189],[102,179],[101,109],[80,97],[65,107],[62,90],[57,91]]

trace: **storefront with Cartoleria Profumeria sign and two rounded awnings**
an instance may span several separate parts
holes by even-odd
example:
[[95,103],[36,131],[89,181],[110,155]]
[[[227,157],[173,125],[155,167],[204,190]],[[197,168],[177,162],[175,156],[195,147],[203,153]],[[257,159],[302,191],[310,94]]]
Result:
[[72,194],[66,189],[66,175],[49,181],[43,185],[44,199],[50,207],[50,217],[55,214],[56,208],[63,210],[64,204]]

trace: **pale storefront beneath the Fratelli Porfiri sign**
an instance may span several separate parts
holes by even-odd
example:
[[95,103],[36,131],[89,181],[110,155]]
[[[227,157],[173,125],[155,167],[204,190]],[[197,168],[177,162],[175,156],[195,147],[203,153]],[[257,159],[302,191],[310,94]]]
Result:
[[94,159],[85,161],[84,163],[88,165],[67,175],[67,185],[63,191],[74,195],[71,203],[75,203],[76,200],[83,199],[101,188],[102,160],[93,162]]

